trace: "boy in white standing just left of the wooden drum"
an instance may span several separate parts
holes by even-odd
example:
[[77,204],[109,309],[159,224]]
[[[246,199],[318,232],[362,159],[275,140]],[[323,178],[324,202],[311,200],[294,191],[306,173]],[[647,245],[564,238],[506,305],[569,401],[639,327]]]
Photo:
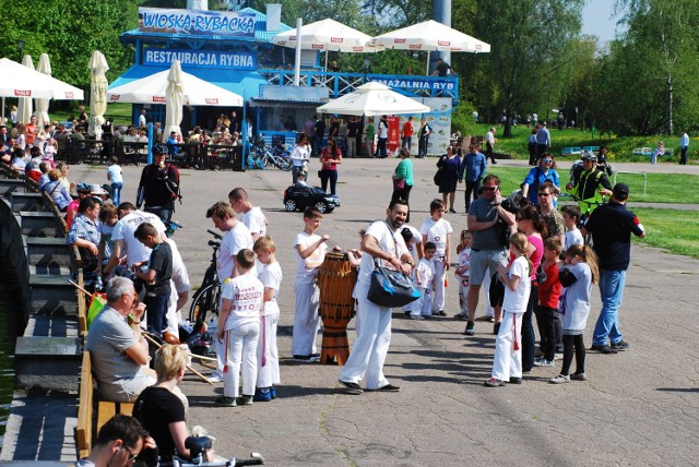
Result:
[[330,236],[316,235],[323,215],[316,207],[304,211],[304,231],[294,240],[296,256],[296,311],[294,313],[294,332],[292,334],[292,355],[295,359],[313,362],[320,355],[316,349],[316,334],[320,328],[318,304],[320,289],[316,285],[316,276],[325,260]]

